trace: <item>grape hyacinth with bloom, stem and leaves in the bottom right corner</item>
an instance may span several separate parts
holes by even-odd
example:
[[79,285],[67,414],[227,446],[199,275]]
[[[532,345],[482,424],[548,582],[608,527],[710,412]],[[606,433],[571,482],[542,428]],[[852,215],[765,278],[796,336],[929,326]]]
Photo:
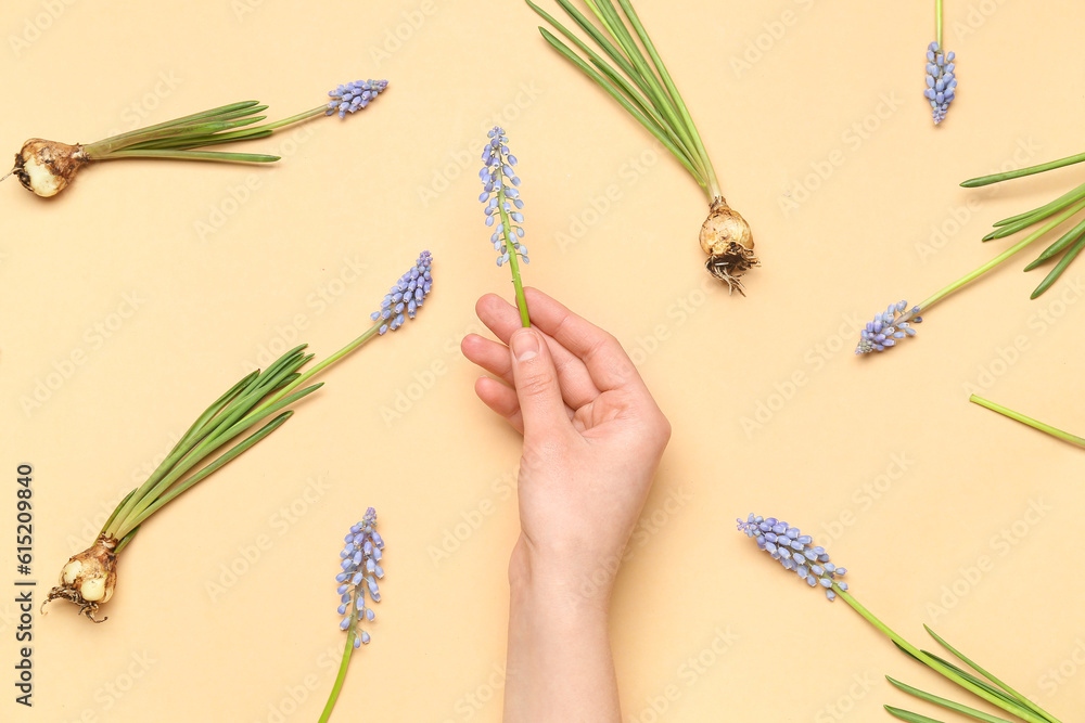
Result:
[[[753,538],[757,543],[757,547],[771,555],[773,559],[779,561],[786,570],[797,574],[810,588],[824,590],[826,597],[830,602],[840,597],[914,660],[921,662],[972,695],[1001,708],[1007,713],[1013,715],[1014,720],[1025,721],[1026,723],[1060,723],[1057,718],[992,675],[974,661],[965,657],[927,625],[923,625],[927,632],[942,647],[955,656],[959,662],[953,662],[934,653],[921,650],[897,635],[852,596],[848,592],[847,583],[840,579],[847,570],[833,565],[825,547],[815,546],[814,539],[808,534],[803,534],[799,528],[792,527],[775,517],[766,518],[753,514],[744,520],[739,518],[737,521],[739,531],[744,532],[749,538]],[[968,672],[959,663],[968,666],[975,672]],[[987,723],[1011,723],[1011,721],[1005,718],[997,718],[969,706],[926,693],[888,675],[885,677],[890,683],[905,693],[947,710],[968,715],[979,721],[986,721]],[[892,706],[885,706],[885,710],[895,718],[910,721],[911,723],[940,723],[936,719]]]

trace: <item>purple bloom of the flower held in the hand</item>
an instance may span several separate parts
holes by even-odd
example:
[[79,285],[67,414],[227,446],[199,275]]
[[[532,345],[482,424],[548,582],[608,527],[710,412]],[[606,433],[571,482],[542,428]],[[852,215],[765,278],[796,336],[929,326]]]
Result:
[[[509,153],[509,137],[505,134],[505,129],[495,126],[487,134],[489,141],[486,142],[482,151],[482,170],[478,178],[482,179],[483,192],[478,195],[478,201],[486,204],[486,225],[497,228],[489,237],[497,251],[497,266],[509,262],[509,248],[505,242],[505,234],[508,231],[509,240],[513,249],[524,263],[531,263],[527,258],[527,247],[520,240],[524,237],[524,215],[521,209],[524,202],[520,198],[520,179],[516,177],[513,167],[516,165],[516,157]],[[509,219],[509,228],[505,228],[501,211]]]

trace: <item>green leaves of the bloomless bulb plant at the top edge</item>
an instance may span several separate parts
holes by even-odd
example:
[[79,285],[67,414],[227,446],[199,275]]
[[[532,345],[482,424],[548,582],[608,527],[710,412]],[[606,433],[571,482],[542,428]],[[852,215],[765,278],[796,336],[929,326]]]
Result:
[[719,184],[693,119],[629,0],[617,0],[621,14],[611,0],[585,0],[599,25],[588,20],[570,0],[557,0],[570,18],[595,42],[599,52],[532,0],[526,2],[576,46],[591,64],[545,27],[539,27],[547,42],[599,83],[629,115],[659,139],[705,190],[710,199],[718,196]]

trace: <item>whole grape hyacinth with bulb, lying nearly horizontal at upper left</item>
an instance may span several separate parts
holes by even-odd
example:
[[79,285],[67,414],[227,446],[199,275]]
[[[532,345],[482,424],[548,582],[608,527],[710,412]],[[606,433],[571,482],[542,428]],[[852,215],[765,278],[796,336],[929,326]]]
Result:
[[267,116],[256,114],[266,111],[268,106],[260,105],[257,101],[243,101],[112,135],[94,143],[69,145],[31,138],[15,154],[15,167],[3,178],[14,175],[28,191],[48,198],[66,189],[84,166],[95,160],[159,158],[275,163],[279,160],[279,156],[203,149],[221,143],[267,138],[277,130],[316,116],[337,114],[343,118],[347,113],[365,108],[387,86],[387,80],[355,80],[329,91],[331,100],[327,103],[295,116],[259,126],[253,124],[265,120]]

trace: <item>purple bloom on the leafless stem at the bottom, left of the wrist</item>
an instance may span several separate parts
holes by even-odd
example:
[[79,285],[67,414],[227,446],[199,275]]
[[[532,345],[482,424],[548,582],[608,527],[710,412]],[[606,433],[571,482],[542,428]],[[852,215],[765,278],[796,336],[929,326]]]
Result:
[[[340,553],[340,567],[343,571],[335,576],[335,582],[340,583],[339,614],[346,616],[340,622],[340,630],[349,630],[352,620],[355,625],[360,625],[362,621],[372,622],[376,617],[373,608],[366,606],[367,594],[373,603],[381,602],[376,581],[384,577],[384,568],[381,567],[384,540],[374,527],[376,511],[370,507],[361,521],[353,525],[344,538],[346,546]],[[363,643],[369,643],[369,633],[359,628],[354,647],[361,647]]]

